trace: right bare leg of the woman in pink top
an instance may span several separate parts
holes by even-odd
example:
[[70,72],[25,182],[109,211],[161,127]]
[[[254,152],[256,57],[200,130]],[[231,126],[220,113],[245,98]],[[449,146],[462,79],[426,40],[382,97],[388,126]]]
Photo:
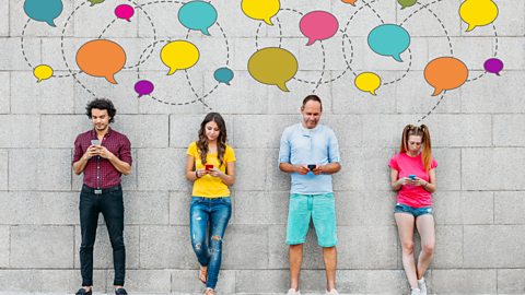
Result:
[[421,280],[434,256],[434,217],[432,214],[420,215],[416,219],[416,226],[421,236],[421,252],[418,259],[418,280]]

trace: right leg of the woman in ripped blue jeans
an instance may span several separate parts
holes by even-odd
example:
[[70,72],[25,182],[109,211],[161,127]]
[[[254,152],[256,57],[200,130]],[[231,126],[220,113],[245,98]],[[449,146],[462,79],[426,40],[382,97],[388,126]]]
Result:
[[208,288],[215,288],[222,262],[222,241],[226,232],[228,222],[232,215],[230,198],[213,200],[210,216],[210,261],[208,264]]

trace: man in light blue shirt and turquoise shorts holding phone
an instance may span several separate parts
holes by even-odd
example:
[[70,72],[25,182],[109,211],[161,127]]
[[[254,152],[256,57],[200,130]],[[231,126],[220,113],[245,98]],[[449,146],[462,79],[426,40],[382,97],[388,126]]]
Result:
[[337,295],[337,225],[331,174],[341,169],[339,144],[334,131],[319,125],[323,104],[308,95],[301,106],[303,119],[284,129],[279,149],[279,168],[291,174],[287,244],[290,245],[290,290],[299,295],[303,244],[310,220],[314,222],[317,244],[323,247],[326,294]]

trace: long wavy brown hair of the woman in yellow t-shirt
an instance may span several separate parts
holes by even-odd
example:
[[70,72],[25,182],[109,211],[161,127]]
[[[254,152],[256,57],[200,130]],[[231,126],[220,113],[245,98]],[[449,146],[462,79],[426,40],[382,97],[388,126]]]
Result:
[[197,141],[197,149],[200,152],[200,160],[206,164],[206,155],[208,154],[208,138],[206,137],[206,125],[214,121],[219,127],[219,137],[217,138],[217,153],[221,166],[224,161],[224,153],[226,151],[226,125],[219,113],[209,113],[200,123],[199,140]]

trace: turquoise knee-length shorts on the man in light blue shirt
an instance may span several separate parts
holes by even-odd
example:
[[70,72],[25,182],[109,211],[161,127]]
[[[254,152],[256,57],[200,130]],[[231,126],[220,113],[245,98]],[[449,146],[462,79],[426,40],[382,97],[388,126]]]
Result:
[[287,244],[303,244],[308,233],[310,220],[314,221],[317,244],[334,247],[337,244],[336,202],[334,193],[290,196]]

